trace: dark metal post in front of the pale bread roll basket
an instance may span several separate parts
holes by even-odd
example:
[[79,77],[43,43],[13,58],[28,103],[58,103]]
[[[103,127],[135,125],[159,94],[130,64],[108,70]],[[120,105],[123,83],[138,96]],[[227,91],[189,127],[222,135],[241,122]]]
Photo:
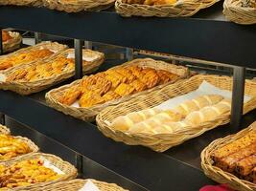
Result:
[[245,68],[233,67],[233,91],[230,124],[232,129],[239,130],[244,107]]

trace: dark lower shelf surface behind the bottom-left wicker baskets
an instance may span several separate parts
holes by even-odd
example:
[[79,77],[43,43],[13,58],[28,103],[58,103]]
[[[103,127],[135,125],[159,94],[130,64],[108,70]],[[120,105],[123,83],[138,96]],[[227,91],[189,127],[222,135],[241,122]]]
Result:
[[[41,152],[57,155],[61,159],[69,161],[71,164],[77,166],[77,153],[71,149],[60,144],[58,141],[48,138],[39,132],[29,128],[26,125],[23,125],[11,117],[6,118],[7,125],[12,131],[12,135],[22,135],[27,138],[32,138],[35,143],[40,147]],[[134,191],[146,191],[147,189],[138,185],[135,182],[125,179],[121,175],[118,175],[111,170],[105,168],[99,163],[83,157],[82,163],[83,171],[82,174],[78,176],[80,179],[95,179],[103,180],[107,182],[114,182],[123,187],[134,190]]]

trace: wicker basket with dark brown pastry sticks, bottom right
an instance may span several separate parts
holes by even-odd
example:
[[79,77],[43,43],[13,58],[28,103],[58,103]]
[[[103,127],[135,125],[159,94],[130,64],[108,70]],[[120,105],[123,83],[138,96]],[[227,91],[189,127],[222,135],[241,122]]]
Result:
[[256,190],[256,122],[210,143],[201,152],[201,166],[207,177],[235,190]]

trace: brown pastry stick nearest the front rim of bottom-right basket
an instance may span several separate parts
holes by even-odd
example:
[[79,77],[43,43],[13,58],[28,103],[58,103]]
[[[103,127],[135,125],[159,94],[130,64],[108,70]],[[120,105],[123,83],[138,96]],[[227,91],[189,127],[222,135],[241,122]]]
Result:
[[256,153],[240,160],[236,165],[236,172],[242,176],[246,176],[254,167],[256,167]]

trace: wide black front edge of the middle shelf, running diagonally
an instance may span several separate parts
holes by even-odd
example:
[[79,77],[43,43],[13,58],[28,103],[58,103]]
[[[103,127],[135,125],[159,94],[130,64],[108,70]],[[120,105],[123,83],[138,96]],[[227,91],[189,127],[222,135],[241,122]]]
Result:
[[105,138],[93,124],[65,116],[28,96],[0,91],[0,112],[149,190],[198,190],[214,184],[190,164]]

